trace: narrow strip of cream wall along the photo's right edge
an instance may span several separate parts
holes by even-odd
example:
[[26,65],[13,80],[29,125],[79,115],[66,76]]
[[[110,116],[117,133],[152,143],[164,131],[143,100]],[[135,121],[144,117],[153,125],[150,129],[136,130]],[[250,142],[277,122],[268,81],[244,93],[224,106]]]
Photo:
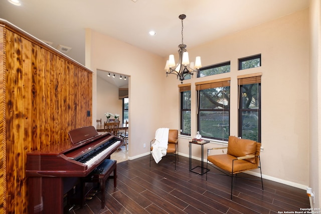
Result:
[[310,1],[309,80],[309,187],[315,193],[314,207],[321,206],[321,1]]

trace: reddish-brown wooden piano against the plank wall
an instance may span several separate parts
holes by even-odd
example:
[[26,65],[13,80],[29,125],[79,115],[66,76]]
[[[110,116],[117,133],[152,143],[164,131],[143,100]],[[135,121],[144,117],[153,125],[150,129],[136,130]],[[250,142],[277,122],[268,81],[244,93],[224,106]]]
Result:
[[76,192],[80,177],[87,176],[123,143],[110,133],[98,134],[93,126],[68,132],[70,143],[27,153],[28,213],[64,213],[67,193]]

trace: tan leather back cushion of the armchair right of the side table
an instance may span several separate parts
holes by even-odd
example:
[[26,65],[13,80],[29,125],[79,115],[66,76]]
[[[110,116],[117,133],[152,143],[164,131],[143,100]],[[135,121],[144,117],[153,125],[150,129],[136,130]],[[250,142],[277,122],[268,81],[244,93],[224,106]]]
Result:
[[[239,139],[235,136],[229,136],[227,154],[234,157],[251,156],[255,155],[256,150],[257,142],[255,142],[254,140]],[[244,160],[255,163],[255,158],[248,158]]]

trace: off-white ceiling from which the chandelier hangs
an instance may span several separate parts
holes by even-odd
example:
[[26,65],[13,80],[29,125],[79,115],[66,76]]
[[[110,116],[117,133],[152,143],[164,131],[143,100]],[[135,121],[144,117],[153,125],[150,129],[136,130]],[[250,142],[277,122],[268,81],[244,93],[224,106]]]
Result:
[[[166,57],[181,44],[180,14],[187,49],[308,8],[309,0],[20,0],[0,1],[0,18],[38,39],[71,47],[85,62],[85,29]],[[154,37],[148,35],[153,30]]]

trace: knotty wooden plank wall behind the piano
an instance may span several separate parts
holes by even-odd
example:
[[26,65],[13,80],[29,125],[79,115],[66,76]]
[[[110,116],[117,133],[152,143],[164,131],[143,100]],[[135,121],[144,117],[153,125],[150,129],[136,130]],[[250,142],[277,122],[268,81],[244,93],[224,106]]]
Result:
[[[6,137],[6,153],[0,158],[7,157],[3,164],[7,185],[4,195],[0,193],[5,197],[4,202],[0,198],[0,205],[4,204],[0,212],[27,213],[26,154],[70,143],[69,130],[92,124],[92,117],[87,117],[87,111],[92,112],[92,73],[24,33],[9,28],[4,31],[6,134],[0,129],[0,140]],[[1,176],[5,167],[0,167]]]

